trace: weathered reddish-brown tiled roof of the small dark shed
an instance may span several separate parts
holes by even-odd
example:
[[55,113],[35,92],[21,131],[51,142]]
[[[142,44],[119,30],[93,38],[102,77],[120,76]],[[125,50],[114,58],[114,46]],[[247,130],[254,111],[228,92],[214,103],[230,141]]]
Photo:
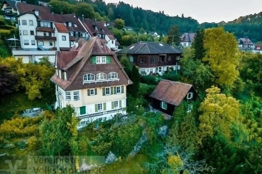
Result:
[[161,80],[150,97],[174,106],[179,106],[191,87],[192,85],[185,83]]

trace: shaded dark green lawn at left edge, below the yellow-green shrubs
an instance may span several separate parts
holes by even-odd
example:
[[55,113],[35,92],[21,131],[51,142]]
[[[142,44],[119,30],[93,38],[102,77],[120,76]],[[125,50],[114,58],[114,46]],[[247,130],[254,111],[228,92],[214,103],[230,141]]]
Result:
[[[48,103],[50,104],[50,103]],[[30,108],[46,108],[43,99],[29,100],[25,92],[15,92],[0,98],[0,123],[4,119],[10,119],[15,113],[21,113]]]

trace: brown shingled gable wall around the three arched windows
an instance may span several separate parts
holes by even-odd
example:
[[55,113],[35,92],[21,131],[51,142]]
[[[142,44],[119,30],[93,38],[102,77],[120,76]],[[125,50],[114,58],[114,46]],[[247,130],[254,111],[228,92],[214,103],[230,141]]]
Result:
[[[88,58],[87,62],[83,68],[78,73],[74,82],[67,88],[67,90],[77,90],[77,89],[88,89],[96,87],[109,87],[109,86],[120,86],[128,85],[128,78],[121,70],[121,67],[118,65],[117,61],[113,56],[111,57],[111,63],[109,64],[92,64],[92,55]],[[97,83],[86,83],[83,85],[83,75],[87,73],[92,73],[96,75],[97,73],[108,73],[116,72],[118,73],[119,81],[113,82],[97,82]]]

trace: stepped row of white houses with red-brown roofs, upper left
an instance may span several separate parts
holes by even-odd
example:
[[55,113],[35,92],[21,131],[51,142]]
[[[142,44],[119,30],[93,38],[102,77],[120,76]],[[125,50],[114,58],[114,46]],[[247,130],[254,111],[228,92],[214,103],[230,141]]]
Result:
[[[11,1],[11,0],[7,0]],[[12,1],[13,2],[13,1]],[[47,6],[37,6],[17,1],[15,7],[18,13],[18,30],[20,47],[12,48],[15,58],[23,57],[23,62],[38,62],[39,58],[48,56],[54,63],[56,51],[68,51],[79,38],[86,35],[104,38],[108,48],[117,50],[119,43],[111,32],[98,23],[98,30],[92,29],[74,14],[54,14]],[[100,27],[101,26],[101,27]],[[98,32],[99,31],[99,32]]]

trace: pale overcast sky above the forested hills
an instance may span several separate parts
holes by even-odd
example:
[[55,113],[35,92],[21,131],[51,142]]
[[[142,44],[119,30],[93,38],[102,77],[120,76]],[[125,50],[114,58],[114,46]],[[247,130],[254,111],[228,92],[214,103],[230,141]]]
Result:
[[[163,11],[170,16],[192,17],[202,22],[232,21],[240,16],[262,11],[262,0],[122,0],[133,7],[155,12]],[[105,0],[118,3],[119,0]]]

